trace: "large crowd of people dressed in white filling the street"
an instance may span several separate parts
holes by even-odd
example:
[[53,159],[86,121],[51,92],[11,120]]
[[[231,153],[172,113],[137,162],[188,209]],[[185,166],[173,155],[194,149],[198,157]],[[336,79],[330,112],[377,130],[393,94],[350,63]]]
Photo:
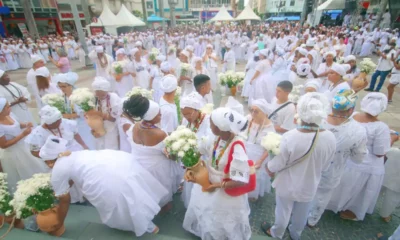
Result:
[[[378,118],[400,82],[397,29],[300,29],[298,23],[272,23],[92,36],[87,39],[96,71],[91,91],[93,108],[104,121],[103,135],[89,127],[83,109],[71,104],[79,76],[71,72],[69,60],[79,56],[80,45],[73,38],[38,43],[43,47],[38,44],[40,50],[33,51],[37,45],[29,39],[20,45],[3,40],[1,165],[11,191],[19,180],[51,171],[61,223],[70,203],[88,201],[109,227],[137,236],[157,233],[154,216],[169,211],[173,195],[181,193],[185,230],[206,240],[250,239],[249,201],[259,201],[274,188],[275,221],[261,228],[281,239],[289,226],[297,240],[325,210],[363,221],[381,190],[385,221],[400,204],[400,150],[391,150],[399,137]],[[26,62],[25,53],[32,54]],[[357,67],[357,56],[372,54],[379,60],[367,88],[365,77],[356,84],[365,71]],[[52,76],[47,60],[60,73]],[[213,94],[225,91],[219,73],[235,72],[240,61],[247,64],[237,97],[249,114],[234,97],[211,113],[203,111],[213,104]],[[6,71],[22,62],[31,67],[28,89]],[[389,75],[386,96],[380,90]],[[152,90],[152,96],[130,96],[134,87]],[[364,90],[371,92],[358,99]],[[65,113],[43,101],[48,94],[63,97]],[[28,109],[32,96],[40,109],[39,124]],[[165,149],[165,138],[180,125],[196,133],[202,149],[211,182],[204,191],[183,181],[182,164]],[[269,133],[282,135],[276,156],[262,146]],[[252,174],[255,190],[227,194],[249,184]]]

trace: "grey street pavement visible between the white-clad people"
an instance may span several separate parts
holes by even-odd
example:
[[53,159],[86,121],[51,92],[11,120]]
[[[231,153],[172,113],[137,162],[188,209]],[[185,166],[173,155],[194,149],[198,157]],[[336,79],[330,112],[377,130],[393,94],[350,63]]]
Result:
[[[78,73],[79,81],[77,87],[89,87],[95,77],[95,71],[93,67],[79,68],[78,62],[72,63],[73,71]],[[245,64],[239,63],[237,69],[239,71],[244,69]],[[57,69],[49,63],[47,66],[51,73],[56,73]],[[28,70],[17,70],[9,72],[11,81],[18,82],[24,86],[26,83],[26,73]],[[388,81],[387,81],[388,82]],[[382,90],[386,93],[386,88]],[[397,88],[393,103],[388,106],[386,112],[379,116],[379,119],[386,122],[389,127],[393,130],[400,131],[400,89]],[[359,93],[359,98],[366,95],[364,91]],[[242,101],[242,99],[238,98]],[[223,105],[227,100],[226,96],[221,96],[220,92],[214,93],[215,106]],[[359,105],[359,104],[358,104]],[[246,109],[246,108],[245,108]],[[359,106],[357,106],[359,109]],[[34,103],[31,104],[31,111],[37,115],[37,109]],[[398,144],[398,143],[396,143]],[[397,145],[399,146],[399,145]],[[110,196],[112,197],[112,196]],[[182,222],[185,216],[185,208],[180,201],[180,195],[174,196],[174,207],[173,209],[164,214],[159,215],[155,219],[155,223],[160,227],[160,233],[158,235],[146,234],[140,239],[162,239],[162,240],[183,240],[183,239],[198,239],[187,233],[182,228]],[[400,224],[400,209],[397,209],[393,214],[393,219],[390,223],[383,222],[379,217],[379,209],[381,208],[381,198],[378,201],[375,212],[372,215],[367,215],[365,220],[362,222],[352,222],[340,219],[340,217],[330,211],[324,213],[319,224],[309,229],[306,227],[303,232],[302,239],[309,240],[372,240],[377,239],[377,233],[391,234],[396,227]],[[260,229],[262,222],[267,221],[273,223],[274,221],[274,209],[275,209],[275,194],[271,193],[263,198],[260,198],[257,202],[250,203],[251,214],[250,223],[253,230],[253,240],[258,239],[270,239]],[[5,224],[0,229],[0,235],[4,234],[8,228]],[[74,240],[111,240],[111,239],[137,239],[130,232],[123,232],[114,229],[110,229],[101,224],[99,216],[92,206],[88,205],[72,205],[66,219],[67,231],[58,239],[74,239]],[[30,240],[47,240],[56,239],[50,237],[45,233],[33,233],[26,230],[12,230],[6,239],[30,239]],[[290,239],[288,234],[285,234],[284,239]],[[222,239],[221,239],[222,240]]]

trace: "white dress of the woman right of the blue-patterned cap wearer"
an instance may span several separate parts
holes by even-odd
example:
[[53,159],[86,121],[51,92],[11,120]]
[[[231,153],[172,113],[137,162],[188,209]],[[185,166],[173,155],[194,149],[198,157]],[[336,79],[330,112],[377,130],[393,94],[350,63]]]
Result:
[[367,130],[368,154],[355,164],[347,161],[339,186],[332,194],[327,209],[334,212],[350,210],[358,220],[372,214],[385,175],[383,157],[390,149],[390,130],[383,122],[360,123]]

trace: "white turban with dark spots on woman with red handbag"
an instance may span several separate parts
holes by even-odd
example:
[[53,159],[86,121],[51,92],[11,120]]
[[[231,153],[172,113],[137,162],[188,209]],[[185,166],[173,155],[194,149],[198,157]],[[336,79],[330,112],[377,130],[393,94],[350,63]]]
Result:
[[226,107],[215,109],[211,113],[211,120],[219,130],[224,132],[229,131],[238,134],[247,127],[246,117]]

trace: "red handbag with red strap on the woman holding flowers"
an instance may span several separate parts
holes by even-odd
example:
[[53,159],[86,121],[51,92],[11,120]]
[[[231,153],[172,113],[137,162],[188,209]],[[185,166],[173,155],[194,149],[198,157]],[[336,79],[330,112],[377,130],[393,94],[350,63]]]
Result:
[[[231,162],[233,160],[233,151],[234,151],[236,144],[239,144],[240,146],[243,147],[243,149],[246,150],[242,141],[236,141],[232,144],[231,149],[229,150],[228,163],[226,164],[226,166],[224,168],[225,176],[224,176],[223,181],[226,181],[226,182],[232,181],[232,179],[230,177],[230,168],[231,168]],[[250,167],[249,182],[243,186],[239,186],[239,187],[235,187],[235,188],[225,188],[224,190],[225,190],[226,194],[228,194],[229,196],[232,196],[232,197],[241,196],[243,194],[252,192],[256,189],[256,169],[254,167],[254,162],[252,160],[248,160],[247,163],[249,164],[249,167]]]

